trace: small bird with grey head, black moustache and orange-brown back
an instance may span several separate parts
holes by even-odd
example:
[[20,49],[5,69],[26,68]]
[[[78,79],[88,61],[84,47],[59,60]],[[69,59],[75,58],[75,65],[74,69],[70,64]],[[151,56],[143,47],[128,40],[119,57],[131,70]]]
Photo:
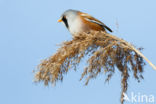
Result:
[[113,32],[108,26],[93,16],[73,9],[66,10],[58,22],[63,22],[72,35],[83,32],[88,33],[92,30],[105,32],[108,30],[109,32]]

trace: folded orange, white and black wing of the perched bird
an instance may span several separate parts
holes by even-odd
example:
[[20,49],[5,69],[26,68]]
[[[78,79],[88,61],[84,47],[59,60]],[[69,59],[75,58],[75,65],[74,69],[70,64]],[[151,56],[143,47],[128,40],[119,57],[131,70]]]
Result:
[[113,32],[113,31],[112,31],[108,26],[106,26],[104,23],[102,23],[101,21],[97,20],[96,18],[90,16],[89,14],[87,14],[87,13],[81,13],[81,16],[83,16],[87,21],[96,23],[96,24],[102,26],[103,28],[107,29],[108,31]]

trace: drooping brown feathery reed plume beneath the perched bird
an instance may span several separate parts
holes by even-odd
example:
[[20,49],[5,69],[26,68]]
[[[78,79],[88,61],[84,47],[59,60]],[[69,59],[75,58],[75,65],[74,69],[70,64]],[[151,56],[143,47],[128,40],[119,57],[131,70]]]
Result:
[[45,85],[55,84],[63,80],[63,75],[69,69],[76,70],[81,59],[88,56],[88,65],[84,68],[81,79],[85,77],[87,85],[90,79],[105,73],[106,81],[109,81],[115,69],[119,69],[122,77],[123,104],[123,93],[127,91],[129,72],[132,71],[138,81],[143,78],[145,63],[138,50],[128,42],[105,32],[92,31],[75,35],[73,40],[64,42],[57,53],[43,60],[38,66],[35,78],[37,82],[43,81]]

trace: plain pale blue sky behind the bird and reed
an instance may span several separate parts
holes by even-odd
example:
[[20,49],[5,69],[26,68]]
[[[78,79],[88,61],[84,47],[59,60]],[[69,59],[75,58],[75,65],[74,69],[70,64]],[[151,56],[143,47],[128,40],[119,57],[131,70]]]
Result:
[[[57,23],[67,9],[101,20],[114,35],[143,47],[143,54],[156,65],[155,5],[156,0],[0,0],[0,104],[120,104],[117,70],[110,83],[101,75],[84,86],[80,64],[55,87],[35,84],[33,70],[57,51],[57,44],[72,38]],[[153,95],[156,103],[156,71],[147,64],[143,75],[141,83],[129,79],[128,95]]]

